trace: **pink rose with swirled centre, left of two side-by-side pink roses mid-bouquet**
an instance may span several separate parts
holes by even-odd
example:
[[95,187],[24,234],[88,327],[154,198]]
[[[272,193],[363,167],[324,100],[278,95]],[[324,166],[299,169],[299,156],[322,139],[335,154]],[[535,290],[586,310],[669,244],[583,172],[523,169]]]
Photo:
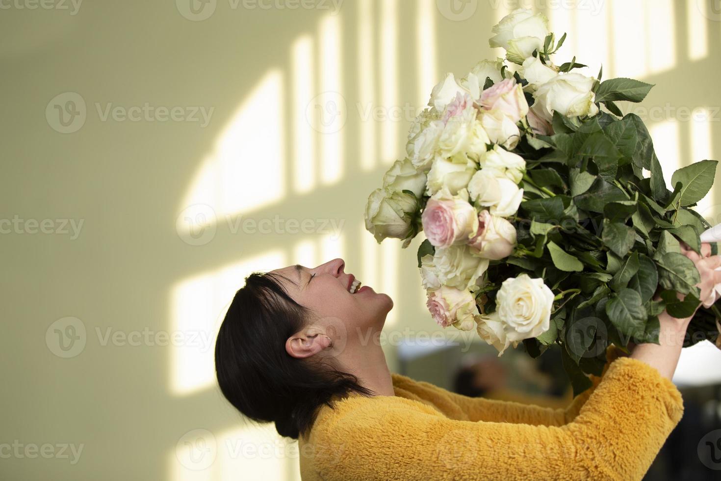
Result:
[[425,237],[435,247],[465,244],[478,229],[476,209],[447,187],[428,199],[421,221]]

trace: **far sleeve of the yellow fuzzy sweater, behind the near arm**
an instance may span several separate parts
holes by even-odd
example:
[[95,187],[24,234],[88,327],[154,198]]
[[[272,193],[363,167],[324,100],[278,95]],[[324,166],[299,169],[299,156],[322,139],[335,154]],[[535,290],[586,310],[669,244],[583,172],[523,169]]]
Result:
[[451,402],[458,405],[469,420],[472,421],[561,426],[575,419],[581,407],[583,407],[590,394],[593,393],[593,390],[596,389],[598,383],[608,371],[611,363],[622,355],[623,353],[619,348],[616,348],[615,345],[609,345],[606,348],[606,365],[603,366],[601,376],[590,376],[591,387],[578,394],[567,407],[561,409],[528,405],[521,402],[492,400],[484,397],[468,397],[441,389],[424,381],[416,382],[428,389],[435,390],[436,394],[449,397]]

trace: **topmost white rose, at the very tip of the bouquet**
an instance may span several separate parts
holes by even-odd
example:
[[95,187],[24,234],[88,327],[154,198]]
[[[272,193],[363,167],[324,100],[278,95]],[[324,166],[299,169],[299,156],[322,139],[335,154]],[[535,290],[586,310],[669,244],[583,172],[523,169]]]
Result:
[[534,50],[543,48],[549,35],[548,19],[544,14],[534,14],[530,9],[516,9],[495,25],[495,33],[489,41],[491,47],[503,47],[506,58],[515,63],[523,63]]

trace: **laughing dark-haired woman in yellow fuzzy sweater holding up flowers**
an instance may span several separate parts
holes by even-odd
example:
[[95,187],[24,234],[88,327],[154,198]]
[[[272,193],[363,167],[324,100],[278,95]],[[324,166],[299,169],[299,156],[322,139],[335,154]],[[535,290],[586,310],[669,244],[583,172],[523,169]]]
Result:
[[[686,253],[702,299],[721,257]],[[254,420],[299,441],[304,480],[640,480],[683,414],[671,382],[689,319],[660,345],[609,346],[565,410],[465,397],[392,374],[378,337],[393,301],[342,259],[253,273],[216,343],[218,384]]]

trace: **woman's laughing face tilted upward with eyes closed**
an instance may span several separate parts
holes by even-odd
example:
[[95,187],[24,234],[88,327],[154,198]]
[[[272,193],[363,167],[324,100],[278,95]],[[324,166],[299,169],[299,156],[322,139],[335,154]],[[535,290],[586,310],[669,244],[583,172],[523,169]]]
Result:
[[[280,278],[288,295],[301,306],[312,311],[311,328],[307,333],[329,335],[337,345],[334,334],[340,334],[344,341],[355,337],[368,337],[368,333],[383,327],[386,315],[393,307],[392,299],[386,294],[373,291],[361,284],[353,294],[355,276],[345,273],[345,262],[333,259],[315,267],[291,265],[271,272],[282,274],[290,281]],[[362,280],[361,280],[362,281]]]

